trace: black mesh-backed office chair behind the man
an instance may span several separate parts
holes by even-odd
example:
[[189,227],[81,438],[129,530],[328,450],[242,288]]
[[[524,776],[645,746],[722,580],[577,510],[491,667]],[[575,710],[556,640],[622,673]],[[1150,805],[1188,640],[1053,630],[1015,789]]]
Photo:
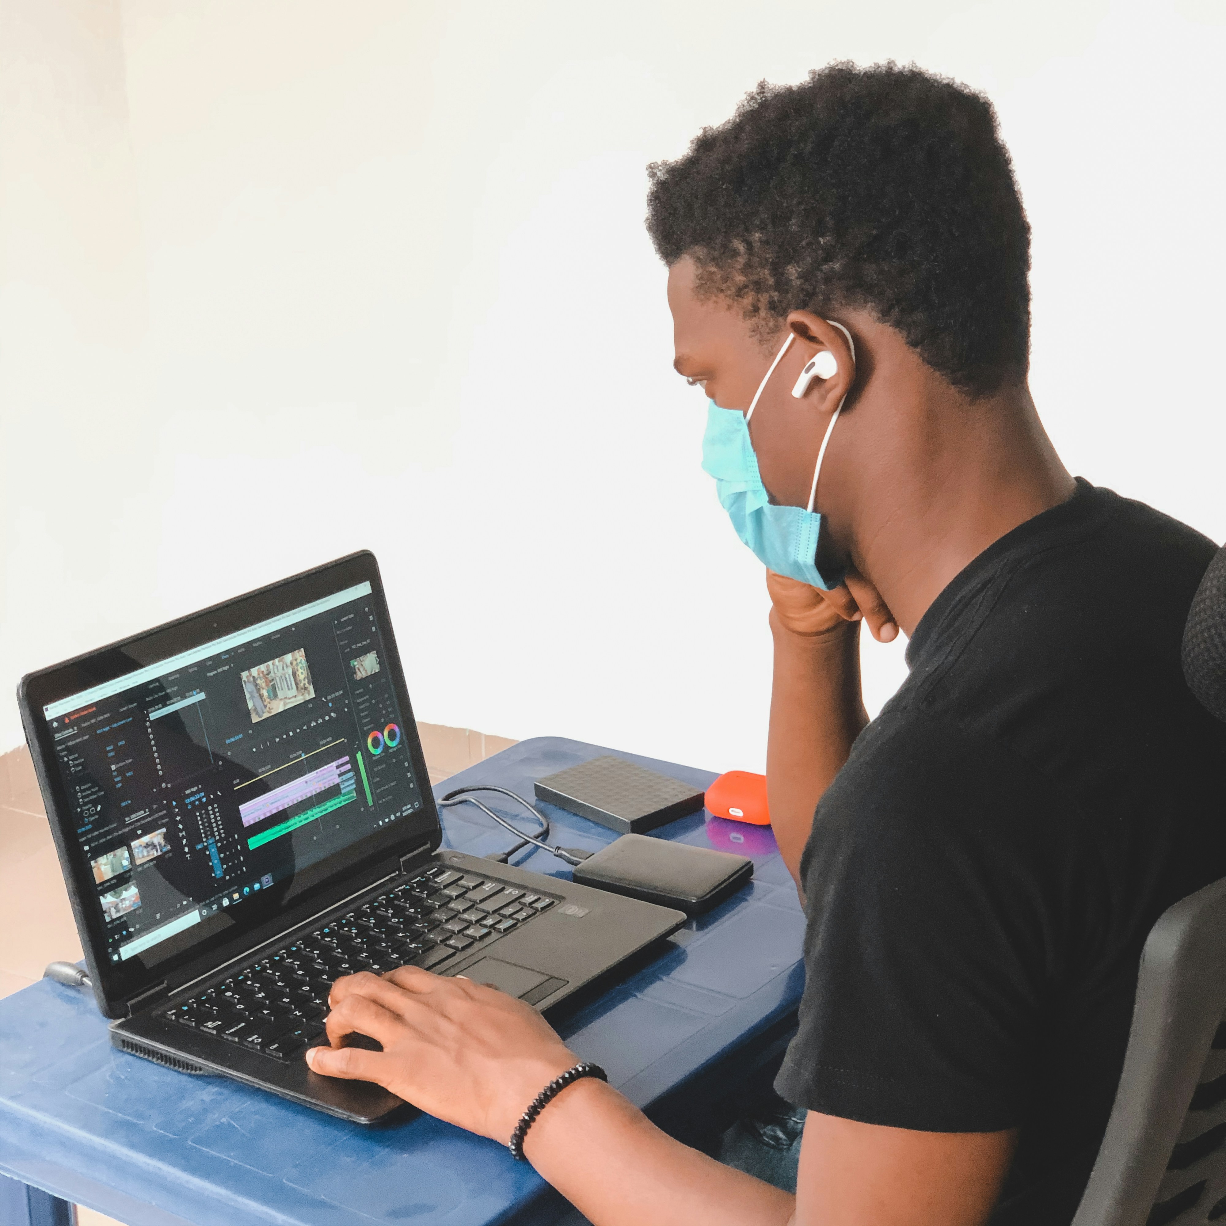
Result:
[[[1183,671],[1226,720],[1226,548],[1188,614]],[[1145,942],[1124,1072],[1073,1226],[1226,1226],[1224,1014],[1226,880],[1177,902]]]

